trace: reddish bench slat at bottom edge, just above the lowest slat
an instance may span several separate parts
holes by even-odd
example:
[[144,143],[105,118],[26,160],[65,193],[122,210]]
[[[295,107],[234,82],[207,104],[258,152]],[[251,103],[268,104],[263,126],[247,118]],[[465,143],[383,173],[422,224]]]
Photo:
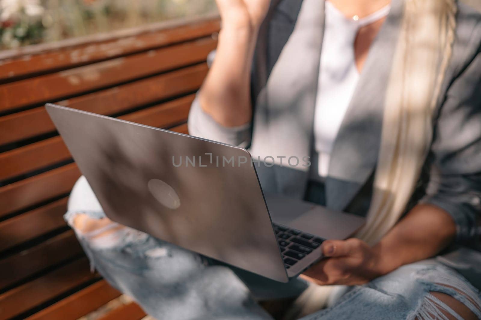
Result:
[[37,312],[26,320],[76,320],[120,295],[121,293],[105,280],[101,280]]

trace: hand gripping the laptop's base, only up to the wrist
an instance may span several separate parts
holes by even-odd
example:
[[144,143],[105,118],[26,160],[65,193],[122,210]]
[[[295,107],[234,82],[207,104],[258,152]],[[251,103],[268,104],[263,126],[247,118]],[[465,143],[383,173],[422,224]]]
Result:
[[301,275],[302,278],[319,285],[355,285],[391,271],[383,270],[377,250],[356,238],[326,240],[322,253],[324,258]]

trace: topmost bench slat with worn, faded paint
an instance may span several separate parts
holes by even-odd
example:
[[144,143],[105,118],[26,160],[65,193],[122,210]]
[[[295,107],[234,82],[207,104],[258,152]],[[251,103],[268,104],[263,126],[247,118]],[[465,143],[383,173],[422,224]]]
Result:
[[0,62],[0,81],[52,70],[70,69],[104,59],[172,45],[212,35],[219,31],[219,28],[219,19],[211,18],[206,21],[187,22],[187,24],[169,28],[164,26],[158,30],[148,29],[140,34],[121,35],[113,39],[89,41],[73,47],[61,47],[47,52],[29,53],[4,59]]

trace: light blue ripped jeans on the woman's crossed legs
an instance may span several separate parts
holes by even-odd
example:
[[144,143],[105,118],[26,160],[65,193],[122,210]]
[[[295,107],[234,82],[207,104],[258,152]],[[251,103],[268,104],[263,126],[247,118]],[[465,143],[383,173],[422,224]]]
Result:
[[[278,283],[113,222],[80,231],[83,222],[76,221],[78,217],[105,217],[82,178],[74,187],[65,220],[73,227],[75,223],[76,236],[92,268],[156,319],[272,320],[256,301],[302,297],[313,291],[313,285],[300,279]],[[445,314],[462,319],[431,292],[454,297],[481,319],[479,290],[435,259],[405,265],[342,292],[329,308],[314,308],[314,313],[302,319],[448,319]],[[296,310],[290,312],[294,312],[291,319],[298,318]]]

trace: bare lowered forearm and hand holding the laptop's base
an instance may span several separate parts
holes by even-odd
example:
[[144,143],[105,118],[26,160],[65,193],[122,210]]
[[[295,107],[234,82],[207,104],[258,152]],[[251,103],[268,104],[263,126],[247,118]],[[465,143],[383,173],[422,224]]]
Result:
[[324,241],[326,258],[302,277],[316,284],[365,284],[402,265],[435,256],[455,236],[456,224],[449,213],[418,204],[373,248],[354,238]]

